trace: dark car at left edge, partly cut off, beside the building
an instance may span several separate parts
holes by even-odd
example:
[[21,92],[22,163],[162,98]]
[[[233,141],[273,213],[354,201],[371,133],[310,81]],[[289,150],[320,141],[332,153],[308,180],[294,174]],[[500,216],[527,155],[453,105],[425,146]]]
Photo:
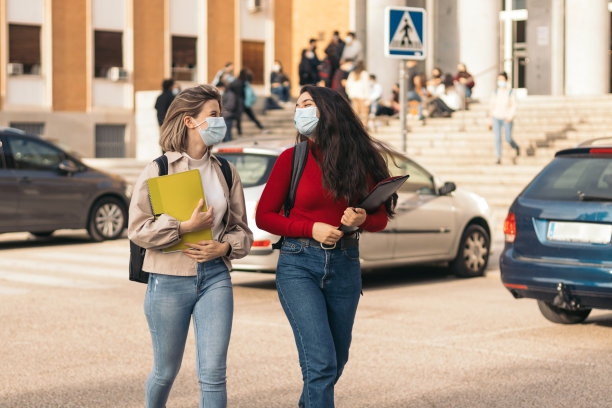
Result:
[[49,236],[86,228],[94,241],[121,236],[131,186],[38,136],[0,128],[0,233]]

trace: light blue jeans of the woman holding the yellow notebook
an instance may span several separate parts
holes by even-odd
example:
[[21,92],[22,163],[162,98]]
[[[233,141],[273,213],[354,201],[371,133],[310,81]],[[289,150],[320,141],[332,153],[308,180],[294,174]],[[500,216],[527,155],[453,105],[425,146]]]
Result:
[[234,300],[229,271],[221,258],[199,263],[197,276],[151,274],[144,309],[153,341],[146,407],[166,406],[193,315],[200,408],[224,408]]

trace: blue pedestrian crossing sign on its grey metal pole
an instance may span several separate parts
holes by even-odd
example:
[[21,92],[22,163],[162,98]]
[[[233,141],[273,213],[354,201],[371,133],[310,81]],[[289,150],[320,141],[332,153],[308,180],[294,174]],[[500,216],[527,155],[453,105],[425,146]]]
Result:
[[406,60],[425,59],[426,11],[415,7],[387,7],[385,9],[385,56],[400,59],[400,128],[402,151],[406,141]]

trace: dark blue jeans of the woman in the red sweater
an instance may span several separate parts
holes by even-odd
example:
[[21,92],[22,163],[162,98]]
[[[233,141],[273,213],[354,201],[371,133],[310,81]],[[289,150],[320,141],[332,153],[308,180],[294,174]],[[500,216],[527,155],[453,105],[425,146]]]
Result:
[[334,385],[348,361],[359,294],[359,249],[324,250],[285,238],[276,288],[297,345],[304,386],[299,406],[334,406]]

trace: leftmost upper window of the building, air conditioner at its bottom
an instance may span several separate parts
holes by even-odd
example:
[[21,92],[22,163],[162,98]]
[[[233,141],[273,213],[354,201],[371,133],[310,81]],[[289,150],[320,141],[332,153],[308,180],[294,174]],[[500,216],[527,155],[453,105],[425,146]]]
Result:
[[40,75],[40,26],[9,24],[9,75]]

